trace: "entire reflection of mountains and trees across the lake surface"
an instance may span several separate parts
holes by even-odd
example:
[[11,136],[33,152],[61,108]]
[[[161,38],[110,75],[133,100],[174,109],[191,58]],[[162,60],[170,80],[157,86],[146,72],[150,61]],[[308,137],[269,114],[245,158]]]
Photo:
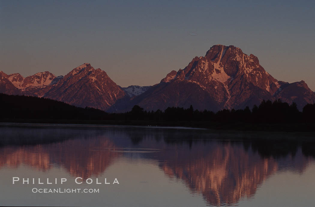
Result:
[[[157,159],[165,175],[184,181],[192,192],[201,193],[206,203],[232,205],[243,197],[253,197],[257,187],[276,171],[302,173],[309,163],[303,155],[310,152],[306,146],[314,146],[289,141],[231,141],[230,135],[226,141],[207,140],[206,133],[167,129],[58,130],[58,136],[71,139],[4,146],[0,167],[26,164],[47,171],[54,165],[72,176],[87,178],[104,173],[119,155],[134,155],[122,152],[122,148],[159,149],[138,154]],[[43,136],[40,140],[49,142],[50,135],[42,132],[38,134]]]

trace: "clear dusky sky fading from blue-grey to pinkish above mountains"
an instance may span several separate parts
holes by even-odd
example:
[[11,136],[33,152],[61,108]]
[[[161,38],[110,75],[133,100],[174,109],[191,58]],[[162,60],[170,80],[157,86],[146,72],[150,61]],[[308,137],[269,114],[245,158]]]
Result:
[[118,85],[153,85],[214,44],[254,54],[315,90],[315,1],[0,1],[0,63],[24,77],[88,62]]

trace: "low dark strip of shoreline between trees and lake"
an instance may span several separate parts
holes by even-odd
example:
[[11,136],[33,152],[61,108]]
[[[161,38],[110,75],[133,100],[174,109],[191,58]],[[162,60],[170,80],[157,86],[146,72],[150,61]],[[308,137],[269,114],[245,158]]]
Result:
[[209,121],[145,121],[145,120],[71,120],[71,119],[0,119],[0,125],[33,124],[87,127],[138,127],[164,129],[210,129],[214,131],[306,132],[315,134],[315,123],[219,123]]

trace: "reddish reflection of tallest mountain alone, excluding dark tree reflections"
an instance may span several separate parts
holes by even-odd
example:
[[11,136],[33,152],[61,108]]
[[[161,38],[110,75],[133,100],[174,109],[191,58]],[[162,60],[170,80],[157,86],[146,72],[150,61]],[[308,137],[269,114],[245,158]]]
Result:
[[[278,160],[246,152],[241,145],[212,143],[207,148],[192,149],[193,152],[185,147],[168,151],[161,158],[160,167],[168,176],[185,181],[211,205],[236,204],[242,197],[253,197],[257,187],[279,170]],[[298,171],[305,170],[308,160],[303,157],[298,157],[298,161],[291,157],[282,160],[282,164],[291,165],[291,159],[299,163],[295,166]]]

